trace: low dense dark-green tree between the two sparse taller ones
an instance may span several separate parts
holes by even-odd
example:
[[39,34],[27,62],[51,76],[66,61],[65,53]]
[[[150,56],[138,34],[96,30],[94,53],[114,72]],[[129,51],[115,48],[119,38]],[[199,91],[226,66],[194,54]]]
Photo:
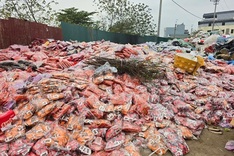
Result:
[[82,26],[92,26],[93,21],[90,16],[96,12],[78,11],[78,9],[72,7],[61,10],[58,15],[58,21],[63,21],[71,24],[78,24]]

